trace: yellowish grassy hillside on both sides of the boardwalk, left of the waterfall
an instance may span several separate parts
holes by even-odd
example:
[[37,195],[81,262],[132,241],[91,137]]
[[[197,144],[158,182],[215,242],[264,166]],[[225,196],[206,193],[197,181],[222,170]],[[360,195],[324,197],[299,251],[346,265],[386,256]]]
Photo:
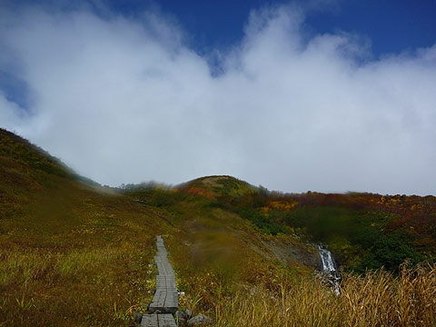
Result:
[[309,251],[287,236],[261,237],[198,194],[120,193],[83,183],[15,134],[0,130],[0,141],[0,325],[129,325],[153,296],[156,234],[194,312],[211,312],[235,283],[276,281],[284,268],[270,243]]

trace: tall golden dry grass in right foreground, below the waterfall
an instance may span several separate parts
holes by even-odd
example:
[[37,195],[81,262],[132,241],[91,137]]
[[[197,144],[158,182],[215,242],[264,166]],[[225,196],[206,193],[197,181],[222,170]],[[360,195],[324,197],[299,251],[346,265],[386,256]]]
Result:
[[383,270],[344,273],[341,294],[322,279],[304,276],[278,290],[243,288],[217,303],[218,326],[436,326],[436,265],[404,263],[394,275]]

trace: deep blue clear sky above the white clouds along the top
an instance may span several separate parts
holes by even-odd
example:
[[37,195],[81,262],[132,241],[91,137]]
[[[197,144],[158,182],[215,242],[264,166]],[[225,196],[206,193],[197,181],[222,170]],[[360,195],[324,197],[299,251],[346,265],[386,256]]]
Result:
[[[266,5],[285,5],[286,1],[110,1],[114,12],[136,15],[148,8],[160,8],[173,15],[192,37],[194,47],[210,50],[237,44],[243,38],[243,26],[251,10]],[[341,30],[371,39],[372,53],[412,51],[433,45],[436,39],[436,1],[434,0],[347,0],[292,2],[309,7],[305,21],[313,34]],[[309,5],[308,5],[309,4]]]

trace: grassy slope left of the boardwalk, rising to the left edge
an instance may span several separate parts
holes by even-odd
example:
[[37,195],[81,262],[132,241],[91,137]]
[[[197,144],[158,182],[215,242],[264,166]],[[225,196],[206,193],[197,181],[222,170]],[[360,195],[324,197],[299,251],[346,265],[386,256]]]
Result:
[[83,181],[0,130],[1,325],[120,326],[148,301],[154,233],[172,227]]

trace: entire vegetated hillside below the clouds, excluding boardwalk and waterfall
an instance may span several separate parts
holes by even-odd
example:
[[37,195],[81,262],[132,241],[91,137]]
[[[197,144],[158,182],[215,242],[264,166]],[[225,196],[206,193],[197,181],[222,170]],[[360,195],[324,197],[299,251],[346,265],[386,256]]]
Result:
[[[0,130],[0,326],[130,325],[153,296],[156,234],[181,307],[219,326],[434,325],[435,266],[399,268],[434,254],[433,209],[432,197],[271,193],[230,176],[103,188]],[[336,296],[310,241],[353,272],[391,272],[343,272]]]

